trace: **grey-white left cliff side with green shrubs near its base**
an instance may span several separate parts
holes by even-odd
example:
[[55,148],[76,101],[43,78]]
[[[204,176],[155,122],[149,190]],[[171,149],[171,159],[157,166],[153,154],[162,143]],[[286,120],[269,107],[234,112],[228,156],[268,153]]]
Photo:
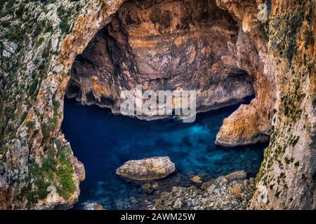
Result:
[[77,202],[84,167],[60,133],[68,73],[122,1],[1,1],[0,209]]

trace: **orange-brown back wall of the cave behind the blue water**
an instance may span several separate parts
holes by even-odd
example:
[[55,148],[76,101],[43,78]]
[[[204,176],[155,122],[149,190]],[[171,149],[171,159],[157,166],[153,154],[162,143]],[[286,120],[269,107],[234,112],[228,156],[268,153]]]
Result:
[[[197,90],[197,110],[254,94],[237,22],[213,1],[128,1],[78,55],[67,96],[118,111],[121,90]],[[245,35],[246,36],[246,35]]]

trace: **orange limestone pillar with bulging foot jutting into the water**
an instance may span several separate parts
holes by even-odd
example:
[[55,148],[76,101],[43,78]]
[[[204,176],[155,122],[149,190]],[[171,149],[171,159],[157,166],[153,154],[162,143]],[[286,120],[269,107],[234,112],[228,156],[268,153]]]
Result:
[[[254,76],[256,98],[249,105],[242,105],[224,120],[216,137],[222,146],[244,146],[268,141],[272,129],[272,116],[276,92],[274,71],[268,60],[268,42],[265,27],[258,21],[260,1],[216,1],[228,10],[242,31],[237,40],[239,66]],[[260,28],[260,29],[258,29]],[[245,48],[244,46],[250,46]],[[254,53],[257,52],[256,54]]]

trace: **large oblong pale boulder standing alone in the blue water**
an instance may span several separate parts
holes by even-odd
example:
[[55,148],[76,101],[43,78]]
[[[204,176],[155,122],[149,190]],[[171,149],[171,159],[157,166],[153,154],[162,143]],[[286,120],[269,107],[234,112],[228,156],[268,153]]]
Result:
[[125,162],[117,169],[117,175],[136,181],[154,181],[165,178],[175,170],[169,157],[154,157]]

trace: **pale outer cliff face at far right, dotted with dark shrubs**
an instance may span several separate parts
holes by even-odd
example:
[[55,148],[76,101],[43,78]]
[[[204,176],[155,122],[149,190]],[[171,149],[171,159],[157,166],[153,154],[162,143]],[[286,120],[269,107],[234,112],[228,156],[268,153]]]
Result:
[[[251,209],[316,209],[315,12],[315,1],[272,4],[268,59],[276,114]],[[267,204],[258,201],[265,188]]]

